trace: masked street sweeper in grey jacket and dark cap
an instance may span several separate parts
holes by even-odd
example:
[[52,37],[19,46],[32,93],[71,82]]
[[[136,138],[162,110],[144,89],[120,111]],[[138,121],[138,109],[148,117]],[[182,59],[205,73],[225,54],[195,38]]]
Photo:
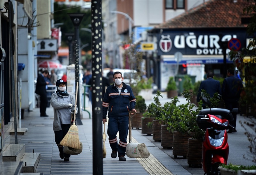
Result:
[[[67,82],[59,79],[56,81],[57,91],[52,94],[51,105],[53,107],[53,131],[55,142],[60,151],[60,158],[64,162],[69,161],[70,154],[64,153],[64,147],[60,141],[65,137],[70,128],[71,115],[75,111],[75,97],[66,91]],[[76,106],[76,114],[78,108]]]

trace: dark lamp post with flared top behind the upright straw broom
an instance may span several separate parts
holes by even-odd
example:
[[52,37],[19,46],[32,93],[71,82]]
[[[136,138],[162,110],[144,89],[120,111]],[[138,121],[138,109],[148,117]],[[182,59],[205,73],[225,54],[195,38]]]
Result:
[[[70,19],[72,20],[72,23],[75,27],[75,80],[78,82],[78,90],[77,90],[77,108],[78,112],[76,114],[76,118],[80,118],[80,95],[79,95],[79,26],[80,23],[84,17],[84,14],[82,13],[68,13]],[[76,83],[75,83],[76,84]]]

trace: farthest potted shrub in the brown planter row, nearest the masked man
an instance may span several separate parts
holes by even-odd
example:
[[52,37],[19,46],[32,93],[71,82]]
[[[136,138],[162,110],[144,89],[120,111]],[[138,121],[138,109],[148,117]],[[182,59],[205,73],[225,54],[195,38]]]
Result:
[[137,110],[137,114],[132,117],[132,128],[139,129],[141,128],[141,118],[143,117],[142,114],[145,112],[147,105],[145,103],[145,99],[141,95],[137,95],[135,98],[135,109]]

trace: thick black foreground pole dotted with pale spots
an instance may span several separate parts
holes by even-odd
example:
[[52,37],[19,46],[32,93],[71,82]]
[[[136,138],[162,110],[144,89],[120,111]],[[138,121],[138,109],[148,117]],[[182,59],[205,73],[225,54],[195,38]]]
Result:
[[92,1],[92,161],[93,174],[103,174],[102,151],[102,16],[101,0]]

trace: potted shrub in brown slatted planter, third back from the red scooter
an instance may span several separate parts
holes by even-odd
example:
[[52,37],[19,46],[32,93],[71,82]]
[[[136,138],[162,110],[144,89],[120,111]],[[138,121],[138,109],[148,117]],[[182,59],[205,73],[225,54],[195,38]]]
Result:
[[171,102],[166,102],[163,106],[161,113],[161,120],[163,121],[163,125],[161,125],[161,146],[163,149],[172,149],[172,132],[167,130],[167,123],[178,102],[180,102],[178,96],[174,96]]

